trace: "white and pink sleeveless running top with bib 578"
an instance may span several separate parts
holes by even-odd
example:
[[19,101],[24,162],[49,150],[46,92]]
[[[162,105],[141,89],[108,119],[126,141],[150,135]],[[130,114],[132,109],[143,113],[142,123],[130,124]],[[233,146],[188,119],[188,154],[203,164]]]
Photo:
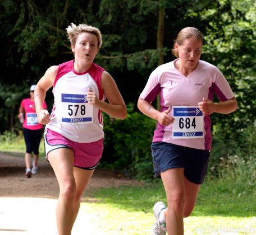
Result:
[[104,137],[102,112],[88,104],[88,90],[99,100],[105,96],[101,86],[102,72],[97,64],[84,73],[77,73],[74,60],[60,64],[53,84],[54,105],[46,128],[79,143],[95,142]]

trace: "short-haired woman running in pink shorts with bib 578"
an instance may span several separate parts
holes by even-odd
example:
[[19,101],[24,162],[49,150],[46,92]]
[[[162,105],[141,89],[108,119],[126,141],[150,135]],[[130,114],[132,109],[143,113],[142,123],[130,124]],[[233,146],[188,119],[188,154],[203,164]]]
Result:
[[[39,122],[47,124],[45,154],[60,186],[58,235],[71,234],[81,196],[102,157],[102,111],[118,119],[126,117],[125,102],[115,80],[93,62],[102,45],[99,29],[71,23],[66,30],[75,59],[50,67],[35,90]],[[43,101],[51,87],[54,106],[49,116]],[[86,233],[84,229],[81,233]]]

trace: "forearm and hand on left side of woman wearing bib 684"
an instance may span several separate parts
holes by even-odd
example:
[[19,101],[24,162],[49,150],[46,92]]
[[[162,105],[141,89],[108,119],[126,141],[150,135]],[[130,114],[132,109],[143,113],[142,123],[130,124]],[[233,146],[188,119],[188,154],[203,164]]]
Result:
[[152,104],[150,104],[146,100],[143,100],[141,97],[139,97],[139,100],[138,100],[138,108],[143,114],[151,117],[154,120],[157,120],[158,123],[161,125],[167,126],[173,123],[174,121],[174,118],[168,115],[170,112],[170,109],[160,112],[154,109]]

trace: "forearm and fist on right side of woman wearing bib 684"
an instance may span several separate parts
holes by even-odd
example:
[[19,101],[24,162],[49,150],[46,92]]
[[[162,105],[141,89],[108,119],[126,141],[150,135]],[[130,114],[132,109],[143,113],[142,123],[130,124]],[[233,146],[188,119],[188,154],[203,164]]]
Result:
[[203,98],[203,101],[198,103],[198,107],[203,114],[212,114],[213,112],[217,112],[219,114],[230,114],[231,112],[236,111],[237,101],[236,98],[233,97],[230,100],[214,103],[207,98]]

